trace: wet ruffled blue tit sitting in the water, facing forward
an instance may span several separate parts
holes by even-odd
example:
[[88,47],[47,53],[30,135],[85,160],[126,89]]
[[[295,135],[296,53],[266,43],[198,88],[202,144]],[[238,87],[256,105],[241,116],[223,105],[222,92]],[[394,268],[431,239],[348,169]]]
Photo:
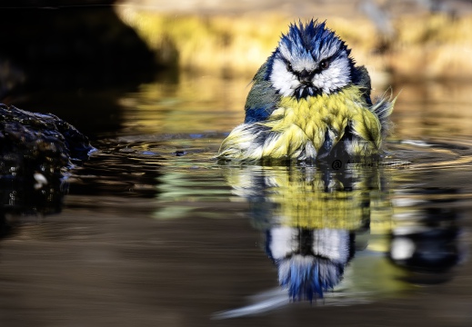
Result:
[[370,77],[325,23],[289,26],[253,79],[244,124],[219,149],[223,160],[316,161],[381,153],[395,100],[370,98]]

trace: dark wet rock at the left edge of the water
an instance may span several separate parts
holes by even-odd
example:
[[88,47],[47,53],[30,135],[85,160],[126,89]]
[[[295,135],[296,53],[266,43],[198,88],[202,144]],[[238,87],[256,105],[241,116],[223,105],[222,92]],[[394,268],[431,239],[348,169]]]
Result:
[[84,134],[54,114],[0,104],[0,227],[5,231],[5,213],[59,212],[67,169],[93,150]]

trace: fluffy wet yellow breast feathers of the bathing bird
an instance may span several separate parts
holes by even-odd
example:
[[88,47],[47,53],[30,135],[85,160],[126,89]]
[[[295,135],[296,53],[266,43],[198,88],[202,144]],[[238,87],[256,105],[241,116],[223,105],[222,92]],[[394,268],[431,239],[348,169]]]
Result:
[[228,135],[220,157],[236,159],[315,159],[326,137],[332,146],[342,140],[346,127],[354,135],[350,152],[377,153],[380,123],[368,109],[362,90],[352,85],[336,94],[296,100],[282,97],[265,122],[241,124]]

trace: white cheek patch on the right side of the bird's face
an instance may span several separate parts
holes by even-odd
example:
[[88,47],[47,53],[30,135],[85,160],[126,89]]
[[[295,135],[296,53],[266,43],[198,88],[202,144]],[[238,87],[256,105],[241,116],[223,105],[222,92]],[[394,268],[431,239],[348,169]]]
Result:
[[350,73],[351,69],[348,59],[341,57],[332,62],[323,73],[316,74],[313,77],[313,84],[323,90],[323,93],[330,94],[349,83]]

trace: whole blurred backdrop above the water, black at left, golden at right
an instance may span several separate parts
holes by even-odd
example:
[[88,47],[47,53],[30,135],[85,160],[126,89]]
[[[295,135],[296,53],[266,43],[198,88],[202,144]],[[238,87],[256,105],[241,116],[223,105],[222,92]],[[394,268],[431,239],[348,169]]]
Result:
[[4,94],[37,80],[41,69],[72,62],[69,81],[76,83],[101,67],[103,78],[87,84],[125,82],[117,71],[148,71],[151,59],[160,68],[252,75],[289,23],[311,18],[326,20],[375,74],[467,78],[472,69],[467,0],[19,0],[1,7],[9,28],[2,35]]

